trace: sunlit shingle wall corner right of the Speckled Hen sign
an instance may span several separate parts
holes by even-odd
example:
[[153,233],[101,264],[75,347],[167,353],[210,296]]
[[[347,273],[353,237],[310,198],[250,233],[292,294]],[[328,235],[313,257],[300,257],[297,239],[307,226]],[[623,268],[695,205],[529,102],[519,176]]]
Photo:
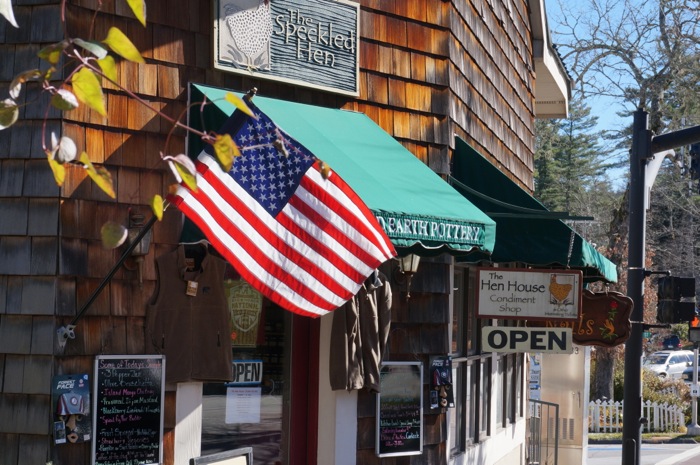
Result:
[[440,174],[454,135],[533,187],[534,71],[524,0],[362,0],[359,101]]

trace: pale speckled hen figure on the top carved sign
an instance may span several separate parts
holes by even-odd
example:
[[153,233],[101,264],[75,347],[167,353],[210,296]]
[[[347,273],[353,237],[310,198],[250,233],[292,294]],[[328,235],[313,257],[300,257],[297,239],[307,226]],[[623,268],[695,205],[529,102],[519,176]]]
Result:
[[[223,5],[223,17],[231,41],[221,44],[227,58],[249,70],[270,69],[272,36],[271,0],[232,0]],[[221,34],[225,40],[226,34]],[[227,45],[224,47],[224,45]]]

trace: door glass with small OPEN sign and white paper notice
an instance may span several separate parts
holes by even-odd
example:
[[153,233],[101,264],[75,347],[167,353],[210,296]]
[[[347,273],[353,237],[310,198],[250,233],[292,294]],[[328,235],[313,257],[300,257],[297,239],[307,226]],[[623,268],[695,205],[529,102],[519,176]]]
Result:
[[266,302],[253,320],[233,322],[234,382],[204,384],[202,455],[252,447],[256,465],[285,463],[291,314]]

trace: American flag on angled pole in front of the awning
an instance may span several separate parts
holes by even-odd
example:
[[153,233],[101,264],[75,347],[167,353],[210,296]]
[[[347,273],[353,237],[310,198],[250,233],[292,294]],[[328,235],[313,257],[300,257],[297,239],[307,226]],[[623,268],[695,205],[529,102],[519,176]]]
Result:
[[396,251],[337,173],[324,178],[319,159],[248,105],[257,119],[237,110],[219,131],[241,152],[231,170],[207,147],[197,191],[183,183],[170,200],[258,292],[292,312],[324,315]]

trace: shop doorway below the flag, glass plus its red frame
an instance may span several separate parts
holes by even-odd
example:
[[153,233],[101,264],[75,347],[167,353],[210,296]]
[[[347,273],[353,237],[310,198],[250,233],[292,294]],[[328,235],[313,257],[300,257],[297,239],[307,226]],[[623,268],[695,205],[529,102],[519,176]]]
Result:
[[252,447],[255,465],[314,463],[319,325],[263,300],[250,326],[233,325],[234,381],[204,384],[202,455]]

